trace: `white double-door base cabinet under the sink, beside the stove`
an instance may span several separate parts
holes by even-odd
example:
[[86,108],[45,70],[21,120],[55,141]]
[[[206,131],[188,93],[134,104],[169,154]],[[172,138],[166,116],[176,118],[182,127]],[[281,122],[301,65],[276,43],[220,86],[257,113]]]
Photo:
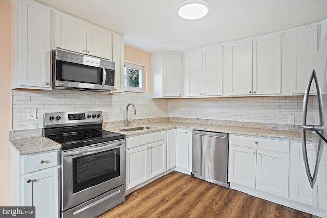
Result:
[[166,171],[166,131],[126,139],[126,189]]

